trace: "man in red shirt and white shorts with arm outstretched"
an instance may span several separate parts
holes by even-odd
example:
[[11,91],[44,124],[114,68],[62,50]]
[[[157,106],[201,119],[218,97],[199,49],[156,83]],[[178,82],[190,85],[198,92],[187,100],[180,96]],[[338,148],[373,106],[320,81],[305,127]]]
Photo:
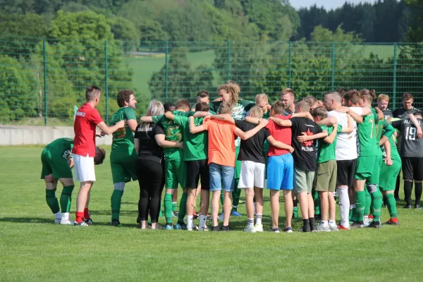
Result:
[[100,89],[97,86],[90,86],[85,91],[87,102],[76,112],[73,131],[73,161],[75,167],[75,180],[80,181],[80,190],[76,201],[75,226],[88,226],[92,224],[88,204],[90,202],[90,190],[95,181],[94,157],[96,156],[95,136],[96,126],[102,130],[102,134],[110,135],[119,128],[125,126],[125,121],[108,127],[104,123],[97,109],[94,109],[100,101]]

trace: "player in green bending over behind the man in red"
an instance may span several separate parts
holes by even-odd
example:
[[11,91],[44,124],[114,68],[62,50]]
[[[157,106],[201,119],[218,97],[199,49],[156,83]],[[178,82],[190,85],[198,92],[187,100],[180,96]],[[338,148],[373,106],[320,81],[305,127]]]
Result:
[[[44,179],[46,183],[46,201],[54,214],[54,222],[64,225],[73,224],[73,221],[69,219],[72,191],[75,187],[71,171],[73,168],[72,147],[73,138],[59,138],[44,147],[41,153],[41,179]],[[102,164],[105,157],[104,149],[96,147],[94,164]],[[63,185],[60,196],[61,212],[59,212],[59,202],[56,198],[57,180]]]

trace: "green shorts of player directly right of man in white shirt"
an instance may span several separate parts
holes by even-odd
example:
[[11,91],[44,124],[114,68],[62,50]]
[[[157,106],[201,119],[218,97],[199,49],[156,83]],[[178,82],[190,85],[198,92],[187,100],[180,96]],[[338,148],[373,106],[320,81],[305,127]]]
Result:
[[379,185],[381,156],[360,156],[355,164],[355,179],[366,180],[367,184]]

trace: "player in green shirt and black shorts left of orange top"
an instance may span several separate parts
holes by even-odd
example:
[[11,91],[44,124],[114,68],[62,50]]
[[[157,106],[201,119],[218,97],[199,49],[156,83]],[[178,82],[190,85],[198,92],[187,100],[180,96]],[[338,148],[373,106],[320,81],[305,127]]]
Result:
[[[209,105],[206,102],[197,103],[195,111],[208,112]],[[208,231],[206,220],[209,210],[209,164],[207,161],[207,133],[190,133],[190,119],[187,116],[176,116],[170,111],[166,112],[166,118],[173,121],[183,129],[183,161],[187,166],[186,188],[188,197],[186,204],[187,230],[192,231],[192,218],[195,205],[195,192],[201,179],[201,207],[200,207],[200,231]],[[201,125],[203,118],[194,118],[195,126]]]

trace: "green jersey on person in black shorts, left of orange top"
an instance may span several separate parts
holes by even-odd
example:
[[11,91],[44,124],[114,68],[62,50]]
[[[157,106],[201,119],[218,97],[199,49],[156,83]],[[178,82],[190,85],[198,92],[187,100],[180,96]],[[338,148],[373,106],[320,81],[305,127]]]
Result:
[[[202,125],[203,119],[194,118],[195,126]],[[207,159],[207,132],[190,133],[190,118],[186,116],[175,116],[173,122],[183,128],[183,161]]]

